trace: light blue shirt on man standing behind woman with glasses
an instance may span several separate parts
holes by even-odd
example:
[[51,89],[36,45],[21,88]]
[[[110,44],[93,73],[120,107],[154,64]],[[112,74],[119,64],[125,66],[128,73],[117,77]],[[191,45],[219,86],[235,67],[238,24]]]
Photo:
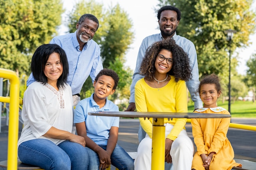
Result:
[[[194,102],[195,108],[201,108],[202,107],[202,100],[200,99],[197,90],[199,86],[199,74],[198,74],[198,59],[197,54],[195,50],[195,45],[190,40],[180,36],[180,35],[173,35],[173,39],[175,40],[176,44],[182,47],[182,49],[188,54],[189,60],[190,60],[190,66],[192,68],[192,79],[186,82],[186,86],[189,89],[189,93],[191,95],[191,99]],[[142,75],[139,74],[139,68],[141,65],[141,62],[143,60],[143,57],[146,53],[147,48],[152,45],[154,42],[163,40],[162,34],[153,34],[146,38],[141,43],[141,46],[139,47],[139,53],[137,57],[136,67],[135,71],[132,76],[132,84],[130,86],[130,103],[135,103],[135,97],[134,97],[134,87],[136,82],[143,78]]]

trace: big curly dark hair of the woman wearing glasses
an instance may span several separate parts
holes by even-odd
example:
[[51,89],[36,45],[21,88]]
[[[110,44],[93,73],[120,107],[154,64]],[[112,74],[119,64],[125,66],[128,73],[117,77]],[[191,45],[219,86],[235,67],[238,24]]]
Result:
[[167,73],[168,75],[174,75],[175,82],[180,79],[188,81],[191,79],[191,66],[188,55],[184,50],[175,43],[172,38],[167,38],[162,41],[155,42],[146,50],[146,54],[141,62],[140,74],[146,79],[152,81],[155,75],[155,60],[157,55],[162,49],[171,51],[173,54],[173,65],[171,70]]

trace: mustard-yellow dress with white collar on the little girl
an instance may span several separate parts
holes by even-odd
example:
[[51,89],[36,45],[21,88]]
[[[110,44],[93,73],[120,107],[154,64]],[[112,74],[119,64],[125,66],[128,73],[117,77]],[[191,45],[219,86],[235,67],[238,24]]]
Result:
[[[195,113],[230,113],[221,107],[199,108]],[[200,155],[216,152],[213,155],[210,170],[231,170],[234,166],[242,166],[234,160],[234,150],[227,139],[230,118],[215,119],[191,119],[192,134],[197,147],[197,152],[193,157],[192,168],[204,170],[203,161]]]

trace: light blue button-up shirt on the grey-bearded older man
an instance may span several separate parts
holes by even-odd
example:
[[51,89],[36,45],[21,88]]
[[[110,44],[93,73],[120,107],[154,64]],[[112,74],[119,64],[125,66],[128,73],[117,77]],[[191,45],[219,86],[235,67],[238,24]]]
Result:
[[[50,44],[58,44],[64,49],[67,55],[69,64],[67,84],[71,86],[73,95],[81,92],[83,84],[89,75],[92,82],[94,82],[99,71],[103,69],[99,45],[94,40],[89,40],[82,51],[80,51],[76,31],[66,35],[56,36],[51,40]],[[27,86],[34,81],[31,73],[27,80]]]

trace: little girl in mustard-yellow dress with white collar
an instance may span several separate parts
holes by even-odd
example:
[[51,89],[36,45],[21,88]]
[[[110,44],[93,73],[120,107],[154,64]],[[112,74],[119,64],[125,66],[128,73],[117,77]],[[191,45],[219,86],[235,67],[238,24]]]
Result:
[[[217,106],[221,94],[220,81],[217,75],[204,77],[198,89],[204,103],[195,113],[230,113]],[[231,118],[191,119],[192,134],[197,151],[193,157],[192,170],[231,170],[242,166],[234,160],[234,150],[227,139],[227,130]]]

